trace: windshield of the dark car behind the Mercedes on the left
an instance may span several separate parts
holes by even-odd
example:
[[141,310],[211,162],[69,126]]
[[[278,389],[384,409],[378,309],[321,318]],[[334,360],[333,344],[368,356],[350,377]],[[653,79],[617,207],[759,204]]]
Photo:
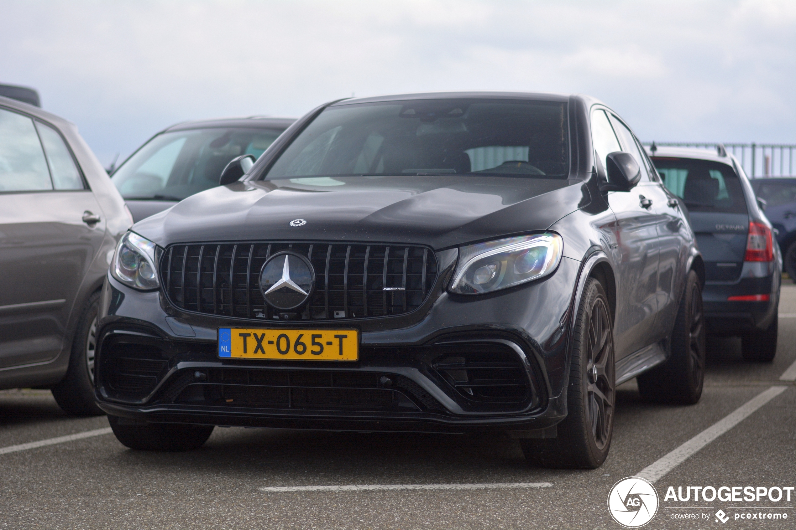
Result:
[[162,133],[117,169],[111,180],[125,199],[182,200],[218,185],[233,158],[259,157],[276,129],[198,129]]

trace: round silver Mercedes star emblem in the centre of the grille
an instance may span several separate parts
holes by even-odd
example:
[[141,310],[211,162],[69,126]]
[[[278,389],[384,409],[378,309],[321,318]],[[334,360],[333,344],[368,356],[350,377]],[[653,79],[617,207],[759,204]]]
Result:
[[306,257],[284,250],[263,263],[259,288],[263,298],[277,311],[301,308],[310,299],[315,287],[315,271]]

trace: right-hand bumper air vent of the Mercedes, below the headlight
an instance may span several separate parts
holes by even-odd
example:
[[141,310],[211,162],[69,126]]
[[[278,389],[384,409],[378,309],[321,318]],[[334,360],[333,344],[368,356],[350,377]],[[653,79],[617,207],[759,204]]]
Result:
[[432,366],[468,400],[511,403],[529,397],[525,368],[510,352],[448,354]]

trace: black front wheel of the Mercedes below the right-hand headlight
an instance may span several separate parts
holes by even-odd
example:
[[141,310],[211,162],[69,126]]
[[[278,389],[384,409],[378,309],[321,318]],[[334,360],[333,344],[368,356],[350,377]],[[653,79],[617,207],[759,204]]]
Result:
[[611,447],[616,402],[614,332],[603,285],[583,288],[570,349],[567,417],[554,439],[521,439],[533,466],[595,469]]

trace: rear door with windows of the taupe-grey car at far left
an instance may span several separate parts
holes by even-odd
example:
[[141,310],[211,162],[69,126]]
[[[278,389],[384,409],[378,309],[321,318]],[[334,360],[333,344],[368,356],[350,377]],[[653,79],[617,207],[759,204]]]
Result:
[[0,368],[59,354],[104,228],[60,133],[0,108]]

